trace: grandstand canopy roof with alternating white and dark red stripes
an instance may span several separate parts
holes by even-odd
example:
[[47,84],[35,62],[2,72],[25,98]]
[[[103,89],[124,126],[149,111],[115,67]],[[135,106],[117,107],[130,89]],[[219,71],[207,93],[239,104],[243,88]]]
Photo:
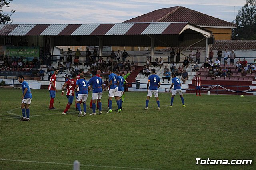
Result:
[[188,24],[188,22],[1,24],[0,36],[178,35],[186,29],[192,29],[210,36],[208,30]]

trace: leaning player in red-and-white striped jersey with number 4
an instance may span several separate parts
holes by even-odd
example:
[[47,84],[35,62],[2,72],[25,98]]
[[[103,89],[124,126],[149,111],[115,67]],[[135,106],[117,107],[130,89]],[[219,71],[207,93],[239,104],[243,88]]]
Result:
[[63,96],[64,94],[64,88],[67,86],[67,92],[66,92],[66,97],[68,98],[68,104],[66,106],[66,109],[62,112],[62,115],[66,115],[68,112],[68,109],[71,107],[73,100],[74,100],[74,89],[76,88],[76,76],[77,74],[74,73],[72,74],[72,79],[69,79],[64,83],[62,86],[62,92],[61,95]]

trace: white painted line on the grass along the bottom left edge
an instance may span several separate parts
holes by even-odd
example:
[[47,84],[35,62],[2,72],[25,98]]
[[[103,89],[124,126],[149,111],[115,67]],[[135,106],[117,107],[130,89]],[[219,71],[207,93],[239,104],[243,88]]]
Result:
[[[60,162],[42,162],[42,161],[33,161],[33,160],[15,160],[15,159],[3,159],[0,158],[2,161],[12,161],[12,162],[29,162],[29,163],[36,163],[36,164],[56,164],[56,165],[68,165],[73,166],[73,164],[69,163],[60,163]],[[80,166],[88,166],[88,167],[98,167],[98,168],[115,168],[115,169],[130,169],[130,170],[154,170],[148,168],[132,168],[132,167],[123,167],[123,166],[103,166],[103,165],[85,165],[80,164]]]

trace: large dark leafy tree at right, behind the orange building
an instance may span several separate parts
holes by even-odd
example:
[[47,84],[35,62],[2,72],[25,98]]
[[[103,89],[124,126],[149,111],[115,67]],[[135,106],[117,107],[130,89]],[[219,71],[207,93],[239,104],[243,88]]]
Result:
[[246,4],[236,16],[235,40],[256,40],[256,0],[246,0]]

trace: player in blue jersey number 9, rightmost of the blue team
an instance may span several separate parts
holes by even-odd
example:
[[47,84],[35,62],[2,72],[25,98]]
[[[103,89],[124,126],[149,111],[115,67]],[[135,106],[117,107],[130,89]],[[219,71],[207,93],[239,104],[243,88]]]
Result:
[[174,73],[172,73],[172,85],[171,85],[170,90],[169,90],[170,93],[171,93],[172,86],[174,86],[174,89],[173,89],[173,91],[172,91],[172,99],[171,99],[171,105],[170,105],[170,107],[172,107],[172,103],[173,103],[174,96],[175,96],[177,93],[180,94],[180,99],[181,99],[181,101],[182,101],[183,107],[186,107],[185,104],[184,104],[184,98],[183,98],[183,94],[182,94],[182,90],[181,90],[180,79],[178,79]]

